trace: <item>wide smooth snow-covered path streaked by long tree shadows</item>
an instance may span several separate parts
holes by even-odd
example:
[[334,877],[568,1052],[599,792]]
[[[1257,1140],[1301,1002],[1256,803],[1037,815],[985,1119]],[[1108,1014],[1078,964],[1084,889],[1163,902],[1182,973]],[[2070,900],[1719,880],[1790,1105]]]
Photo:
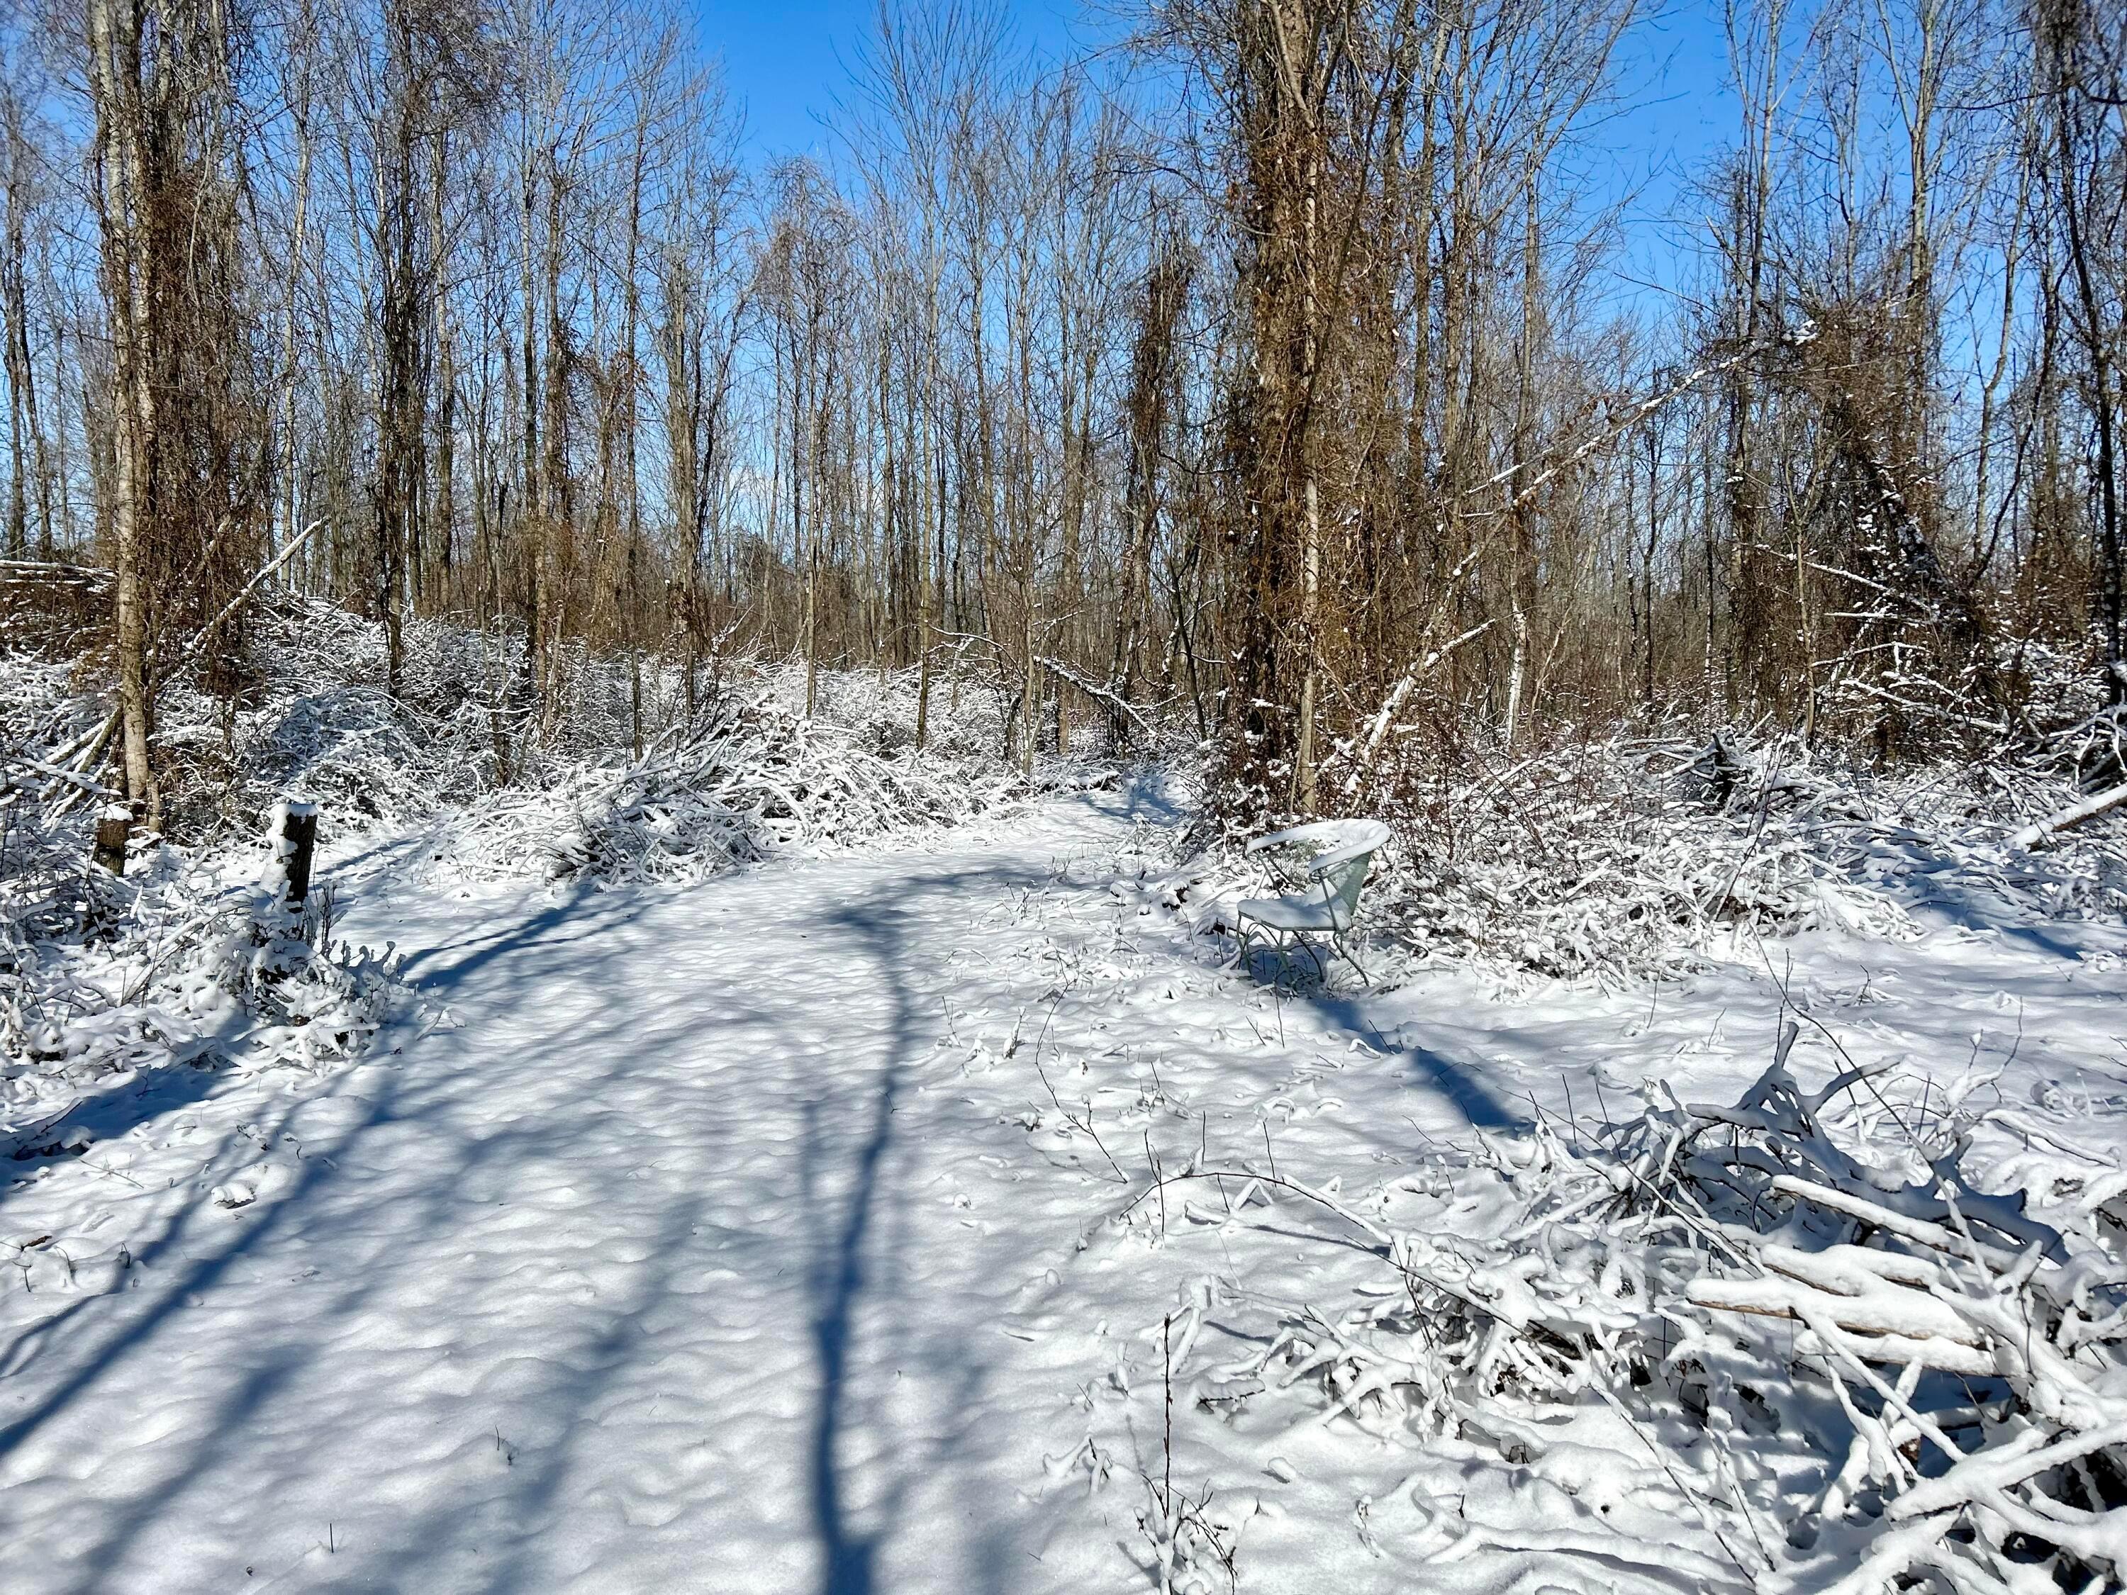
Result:
[[187,1114],[191,1161],[228,1185],[234,1151],[255,1199],[200,1176],[134,1289],[53,1293],[6,1346],[6,1586],[1046,1582],[1040,1459],[998,1408],[1057,1406],[1027,1325],[1093,1210],[1076,1174],[1019,1189],[1046,1165],[957,1089],[944,993],[981,1008],[1074,897],[1112,919],[1059,866],[1125,808],[366,912],[457,1027],[230,1146],[213,1102]]

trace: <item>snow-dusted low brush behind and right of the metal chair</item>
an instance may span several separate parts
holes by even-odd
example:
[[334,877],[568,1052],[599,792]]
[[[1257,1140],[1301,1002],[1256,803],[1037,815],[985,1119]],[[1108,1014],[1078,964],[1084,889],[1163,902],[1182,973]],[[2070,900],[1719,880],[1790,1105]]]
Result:
[[[1361,925],[1406,957],[1623,987],[1682,974],[1759,936],[1846,929],[1908,940],[1936,889],[1987,893],[2012,914],[2127,912],[2127,846],[2106,825],[2038,855],[2006,846],[2076,793],[2076,755],[1893,772],[1825,766],[1785,740],[1565,742],[1519,759],[1412,761],[1387,819]],[[1238,842],[1198,834],[1215,885],[1200,927],[1280,889]]]

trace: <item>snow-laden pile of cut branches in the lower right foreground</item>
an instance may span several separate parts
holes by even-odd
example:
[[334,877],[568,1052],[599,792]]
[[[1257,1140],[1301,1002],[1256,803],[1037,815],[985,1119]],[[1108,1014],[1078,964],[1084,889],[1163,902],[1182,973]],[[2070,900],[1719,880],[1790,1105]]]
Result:
[[1984,1074],[1902,1095],[1842,1068],[1806,1089],[1793,1042],[1734,1104],[1657,1087],[1621,1123],[1485,1136],[1368,1199],[1229,1180],[1223,1214],[1189,1219],[1289,1227],[1297,1191],[1380,1278],[1342,1310],[1206,1299],[1176,1342],[1217,1310],[1255,1348],[1195,1370],[1195,1399],[1242,1431],[1304,1421],[1423,1457],[1410,1550],[1427,1563],[1519,1550],[1842,1595],[2118,1589],[2118,1148],[2046,1108],[1980,1108]]

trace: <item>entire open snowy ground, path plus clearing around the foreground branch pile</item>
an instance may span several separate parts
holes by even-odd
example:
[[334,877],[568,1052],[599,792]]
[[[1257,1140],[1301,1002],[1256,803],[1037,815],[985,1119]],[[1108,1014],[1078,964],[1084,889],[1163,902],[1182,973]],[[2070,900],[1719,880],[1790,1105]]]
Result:
[[1227,1401],[1280,1310],[1400,1282],[1308,1202],[1153,1174],[1453,1229],[1440,1146],[1734,1099],[1789,1006],[1797,1074],[1999,1065],[2029,1121],[2127,1125],[2112,925],[1923,880],[1919,940],[1621,995],[1295,995],[1168,910],[1174,819],[1051,797],[685,889],[336,859],[419,1010],[334,1074],[106,1104],[0,1191],[0,1584],[1142,1591],[1153,1482],[1208,1491],[1240,1589],[1740,1584],[1572,1446]]

